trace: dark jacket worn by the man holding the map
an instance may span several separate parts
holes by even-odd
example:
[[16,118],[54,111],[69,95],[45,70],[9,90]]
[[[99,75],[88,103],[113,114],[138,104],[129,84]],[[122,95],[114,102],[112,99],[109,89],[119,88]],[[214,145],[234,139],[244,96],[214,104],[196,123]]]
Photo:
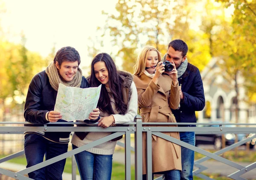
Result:
[[[81,88],[88,88],[89,83],[87,79],[82,76]],[[50,82],[49,78],[45,71],[41,71],[36,74],[29,85],[28,94],[26,97],[25,103],[25,111],[24,117],[25,120],[30,123],[39,123],[39,124],[28,124],[25,126],[44,126],[43,124],[49,123],[46,120],[46,113],[48,111],[53,111],[57,91],[55,91]],[[58,120],[58,122],[66,122],[65,120]],[[60,124],[52,124],[49,126],[70,126],[70,125],[60,125]],[[73,126],[73,125],[71,125]],[[24,134],[28,134],[31,132],[25,132]],[[35,134],[39,134],[41,136],[46,137],[57,143],[68,143],[70,132],[32,132]]]

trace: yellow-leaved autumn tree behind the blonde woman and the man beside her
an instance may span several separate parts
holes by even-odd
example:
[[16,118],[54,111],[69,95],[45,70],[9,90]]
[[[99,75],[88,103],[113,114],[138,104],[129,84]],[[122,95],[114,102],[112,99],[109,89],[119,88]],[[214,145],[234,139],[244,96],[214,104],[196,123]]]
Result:
[[177,38],[188,44],[189,62],[202,70],[211,54],[206,33],[196,23],[202,14],[197,6],[202,6],[201,1],[119,0],[116,12],[104,12],[107,22],[99,31],[102,37],[112,37],[108,46],[118,49],[115,55],[121,57],[126,71],[133,72],[132,67],[143,46],[154,46],[164,55],[168,43]]

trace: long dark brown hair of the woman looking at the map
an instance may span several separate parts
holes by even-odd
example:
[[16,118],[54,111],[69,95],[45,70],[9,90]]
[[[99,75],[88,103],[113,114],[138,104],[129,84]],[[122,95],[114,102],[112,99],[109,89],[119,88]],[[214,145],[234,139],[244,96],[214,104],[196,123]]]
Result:
[[[94,64],[97,62],[105,63],[108,69],[108,84],[109,84],[109,88],[111,90],[112,96],[115,100],[116,110],[119,111],[120,114],[125,114],[127,112],[128,106],[127,104],[124,103],[123,97],[122,97],[121,77],[118,74],[115,62],[113,61],[113,59],[109,54],[100,53],[93,58],[93,61],[91,64],[90,86],[98,87],[99,85],[101,85],[101,82],[97,80],[94,72]],[[100,91],[98,107],[103,112],[107,112],[108,114],[114,114],[111,106],[111,100],[110,100],[110,97],[108,96],[108,91],[106,90],[104,85],[102,85],[102,88]]]

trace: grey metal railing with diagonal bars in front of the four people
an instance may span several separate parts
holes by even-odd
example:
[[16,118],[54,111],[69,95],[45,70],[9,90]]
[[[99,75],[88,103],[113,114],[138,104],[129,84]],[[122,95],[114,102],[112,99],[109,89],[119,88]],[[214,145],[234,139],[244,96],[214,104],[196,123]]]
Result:
[[[0,124],[29,124],[27,122],[0,122]],[[119,146],[125,147],[125,180],[131,180],[131,151],[135,150],[135,180],[142,180],[142,134],[143,132],[146,133],[147,137],[147,174],[152,173],[152,143],[151,143],[151,135],[155,135],[157,137],[161,137],[165,140],[168,140],[172,143],[178,144],[180,146],[183,146],[185,148],[191,149],[195,152],[198,152],[200,154],[203,154],[207,157],[203,157],[200,160],[195,161],[195,171],[193,171],[193,175],[201,177],[206,180],[212,180],[212,178],[209,178],[205,176],[204,174],[201,174],[204,170],[207,169],[207,167],[202,166],[201,163],[209,160],[210,158],[217,160],[221,163],[227,164],[229,166],[232,166],[237,169],[237,171],[233,172],[232,174],[229,174],[227,177],[230,177],[234,180],[245,180],[244,178],[240,177],[242,174],[247,173],[248,171],[251,171],[252,169],[256,168],[256,162],[250,164],[249,166],[241,166],[238,163],[232,162],[230,160],[225,159],[224,157],[220,157],[218,155],[229,151],[231,149],[234,149],[246,142],[249,142],[250,140],[253,140],[256,138],[256,135],[249,137],[247,139],[241,140],[238,143],[235,143],[231,146],[228,146],[224,149],[221,149],[219,151],[216,151],[215,153],[210,153],[208,151],[205,151],[203,149],[200,149],[198,147],[192,146],[188,143],[184,143],[174,137],[170,137],[166,134],[163,134],[161,132],[188,132],[188,131],[195,131],[197,134],[224,134],[224,133],[234,133],[234,134],[248,134],[248,133],[256,133],[256,124],[245,124],[245,123],[240,123],[240,124],[231,124],[231,123],[142,123],[141,117],[138,115],[135,117],[135,123],[125,123],[126,125],[130,125],[129,127],[127,126],[119,126],[119,127],[108,127],[105,129],[102,129],[101,127],[63,127],[63,126],[47,126],[51,123],[44,124],[44,126],[40,127],[31,127],[31,126],[0,126],[0,134],[20,134],[25,131],[61,131],[61,132],[72,132],[72,131],[89,131],[89,132],[102,132],[102,131],[108,131],[108,132],[115,132],[111,135],[108,135],[106,137],[103,137],[102,139],[96,140],[92,143],[89,143],[87,145],[81,146],[77,149],[73,149],[71,151],[68,151],[64,154],[61,154],[57,157],[54,157],[52,159],[46,160],[42,163],[38,163],[35,166],[31,166],[29,168],[17,171],[17,172],[12,172],[3,168],[0,168],[0,174],[4,174],[9,177],[13,177],[18,180],[31,180],[29,177],[25,177],[24,174],[28,174],[29,172],[35,171],[37,169],[43,168],[45,166],[48,166],[52,163],[55,163],[59,160],[63,160],[67,157],[73,156],[74,154],[77,154],[81,151],[84,151],[86,149],[92,148],[94,146],[97,146],[101,143],[105,143],[109,140],[112,140],[113,138],[119,137],[123,134],[125,134],[125,144],[122,144],[118,142]],[[54,124],[84,124],[84,123],[54,123]],[[154,125],[218,125],[219,127],[152,127]],[[151,127],[144,126],[144,125],[151,125]],[[223,127],[224,125],[236,125],[239,127]],[[131,127],[133,126],[133,127]],[[242,127],[242,126],[250,126],[250,127]],[[255,127],[252,127],[255,126]],[[131,133],[134,133],[134,138],[135,138],[135,148],[131,147]],[[23,155],[24,151],[19,151],[15,154],[9,155],[7,157],[4,157],[0,159],[0,163],[3,163],[7,160],[10,160],[12,158],[18,157],[20,155]],[[76,180],[76,163],[74,158],[72,158],[73,165],[72,165],[72,180]],[[148,180],[152,180],[152,176],[149,175],[147,176]],[[163,179],[163,177],[157,178],[157,180]]]

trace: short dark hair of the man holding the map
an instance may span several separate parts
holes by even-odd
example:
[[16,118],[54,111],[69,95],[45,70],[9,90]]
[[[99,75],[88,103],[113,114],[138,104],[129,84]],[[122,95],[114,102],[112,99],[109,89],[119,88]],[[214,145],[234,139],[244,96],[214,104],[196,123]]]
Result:
[[79,64],[81,63],[79,52],[76,51],[75,48],[70,46],[66,46],[59,49],[55,54],[53,62],[54,63],[58,62],[59,66],[61,66],[61,63],[64,61],[69,61],[69,62],[78,61],[78,66],[79,66]]

